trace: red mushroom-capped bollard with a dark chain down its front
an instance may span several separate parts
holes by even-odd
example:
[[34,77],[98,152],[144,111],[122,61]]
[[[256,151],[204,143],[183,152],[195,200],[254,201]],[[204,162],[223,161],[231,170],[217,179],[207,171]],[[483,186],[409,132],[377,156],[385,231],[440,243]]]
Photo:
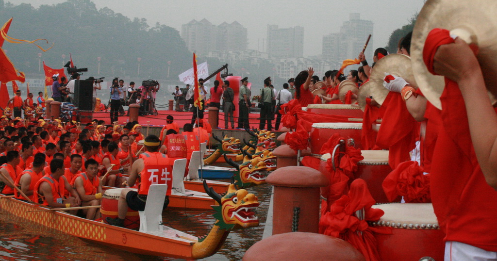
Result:
[[269,174],[266,182],[274,185],[273,235],[287,232],[319,231],[320,187],[330,181],[309,167],[284,167]]

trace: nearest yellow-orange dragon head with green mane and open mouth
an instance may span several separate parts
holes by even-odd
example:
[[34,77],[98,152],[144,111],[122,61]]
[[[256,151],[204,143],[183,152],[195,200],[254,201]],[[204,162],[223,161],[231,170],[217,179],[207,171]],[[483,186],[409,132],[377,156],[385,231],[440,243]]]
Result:
[[245,189],[238,189],[235,184],[228,186],[224,196],[219,195],[204,181],[204,189],[219,205],[212,206],[216,211],[215,225],[221,229],[232,230],[237,228],[250,228],[259,225],[259,218],[254,210],[259,206],[257,197]]

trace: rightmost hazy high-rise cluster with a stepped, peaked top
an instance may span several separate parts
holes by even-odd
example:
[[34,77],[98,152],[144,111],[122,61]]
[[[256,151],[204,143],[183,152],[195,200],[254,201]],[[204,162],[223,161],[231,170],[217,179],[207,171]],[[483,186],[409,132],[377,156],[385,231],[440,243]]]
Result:
[[[373,22],[361,20],[359,13],[351,13],[349,20],[343,22],[339,33],[323,36],[323,59],[340,62],[357,58],[362,51],[368,35],[373,34]],[[366,59],[373,58],[373,38],[366,49]]]

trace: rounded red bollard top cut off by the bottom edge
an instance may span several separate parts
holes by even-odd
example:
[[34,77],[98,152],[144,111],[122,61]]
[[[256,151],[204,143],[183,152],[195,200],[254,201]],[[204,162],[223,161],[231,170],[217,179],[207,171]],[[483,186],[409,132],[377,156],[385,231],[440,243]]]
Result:
[[364,261],[350,243],[315,233],[294,232],[265,238],[245,252],[243,261],[328,260]]

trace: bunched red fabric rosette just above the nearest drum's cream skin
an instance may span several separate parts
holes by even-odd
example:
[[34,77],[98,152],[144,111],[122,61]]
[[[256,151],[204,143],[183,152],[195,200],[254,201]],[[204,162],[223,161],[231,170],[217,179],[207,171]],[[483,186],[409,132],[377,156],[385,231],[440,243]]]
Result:
[[403,162],[383,180],[383,191],[392,202],[397,196],[403,196],[407,203],[429,203],[430,174],[423,174],[417,162]]

